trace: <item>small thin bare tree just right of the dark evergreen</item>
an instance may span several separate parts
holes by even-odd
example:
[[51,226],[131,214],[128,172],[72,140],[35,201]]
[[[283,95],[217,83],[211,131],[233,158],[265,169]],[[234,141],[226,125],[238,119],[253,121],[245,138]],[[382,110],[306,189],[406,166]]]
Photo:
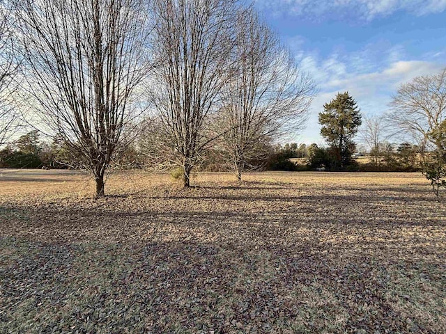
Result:
[[384,119],[378,116],[363,116],[362,141],[369,147],[374,156],[374,164],[381,165],[381,147],[383,141],[388,137],[386,134],[386,125]]

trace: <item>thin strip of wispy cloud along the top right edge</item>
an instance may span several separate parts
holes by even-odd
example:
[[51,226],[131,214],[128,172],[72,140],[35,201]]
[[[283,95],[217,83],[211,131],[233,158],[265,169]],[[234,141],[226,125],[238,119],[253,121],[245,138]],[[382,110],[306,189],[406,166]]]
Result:
[[446,0],[256,0],[256,5],[274,15],[339,17],[355,15],[365,20],[385,17],[399,10],[416,16],[441,13]]

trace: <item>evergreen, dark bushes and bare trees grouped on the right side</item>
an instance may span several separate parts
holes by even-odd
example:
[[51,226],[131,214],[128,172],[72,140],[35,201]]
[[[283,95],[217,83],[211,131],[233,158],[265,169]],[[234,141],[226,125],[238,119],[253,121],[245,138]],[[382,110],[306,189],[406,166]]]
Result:
[[[446,69],[436,75],[417,77],[402,84],[394,95],[390,112],[384,116],[362,117],[348,92],[338,93],[319,113],[321,136],[326,148],[316,144],[287,144],[279,148],[276,166],[290,157],[307,157],[308,168],[326,170],[423,170],[438,194],[446,186]],[[362,125],[362,127],[360,127]],[[371,155],[371,166],[357,166],[353,141],[360,131]],[[401,144],[390,143],[397,139]],[[306,152],[305,152],[306,150]],[[370,168],[374,167],[374,168]]]

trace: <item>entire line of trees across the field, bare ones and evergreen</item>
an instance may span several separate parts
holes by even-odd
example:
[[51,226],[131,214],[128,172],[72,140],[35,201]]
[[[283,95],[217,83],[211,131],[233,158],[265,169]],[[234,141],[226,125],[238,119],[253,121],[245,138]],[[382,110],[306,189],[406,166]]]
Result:
[[[3,164],[34,156],[88,168],[98,197],[111,166],[177,169],[190,186],[192,170],[215,161],[238,180],[281,164],[273,143],[303,127],[316,90],[244,1],[6,0],[0,15],[0,145],[33,129],[2,151]],[[310,165],[351,168],[360,129],[383,164],[387,136],[398,134],[438,192],[445,81],[443,70],[401,85],[383,118],[362,116],[338,93],[319,113],[328,148],[314,148]],[[33,152],[20,144],[39,135],[49,144]]]

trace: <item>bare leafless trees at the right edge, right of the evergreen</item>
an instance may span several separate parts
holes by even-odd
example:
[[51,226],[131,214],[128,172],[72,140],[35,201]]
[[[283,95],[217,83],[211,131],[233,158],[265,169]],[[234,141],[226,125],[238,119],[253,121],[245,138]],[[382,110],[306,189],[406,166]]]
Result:
[[401,84],[389,112],[365,119],[362,139],[375,164],[392,162],[390,137],[403,141],[399,161],[419,165],[438,196],[446,186],[446,68]]

